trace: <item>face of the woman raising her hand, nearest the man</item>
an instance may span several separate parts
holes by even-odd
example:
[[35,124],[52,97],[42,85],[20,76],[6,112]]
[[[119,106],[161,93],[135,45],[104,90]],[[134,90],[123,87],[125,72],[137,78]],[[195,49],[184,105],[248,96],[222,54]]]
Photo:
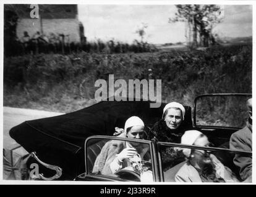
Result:
[[[194,145],[200,147],[208,147],[210,145],[210,142],[208,141],[208,138],[205,135],[203,135],[203,137],[199,137],[197,140],[195,140]],[[211,163],[209,151],[192,150],[191,156],[193,161],[197,163],[199,166]]]

